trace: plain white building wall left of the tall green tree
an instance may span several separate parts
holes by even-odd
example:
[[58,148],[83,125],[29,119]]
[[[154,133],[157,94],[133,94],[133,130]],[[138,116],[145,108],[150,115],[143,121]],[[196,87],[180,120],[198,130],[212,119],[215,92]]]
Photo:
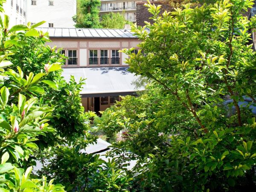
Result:
[[42,27],[74,27],[76,0],[27,0],[27,11],[31,23],[46,21]]

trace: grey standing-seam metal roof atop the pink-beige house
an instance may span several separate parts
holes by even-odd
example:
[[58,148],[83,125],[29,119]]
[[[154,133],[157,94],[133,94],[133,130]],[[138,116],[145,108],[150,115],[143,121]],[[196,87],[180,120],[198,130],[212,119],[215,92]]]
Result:
[[137,38],[131,29],[37,28],[51,38]]

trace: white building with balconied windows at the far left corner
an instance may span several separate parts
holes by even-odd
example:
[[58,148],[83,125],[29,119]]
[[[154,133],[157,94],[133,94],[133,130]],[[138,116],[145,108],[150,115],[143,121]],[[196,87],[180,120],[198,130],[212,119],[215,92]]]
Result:
[[27,0],[7,0],[3,3],[4,14],[9,16],[9,27],[26,24],[26,2]]

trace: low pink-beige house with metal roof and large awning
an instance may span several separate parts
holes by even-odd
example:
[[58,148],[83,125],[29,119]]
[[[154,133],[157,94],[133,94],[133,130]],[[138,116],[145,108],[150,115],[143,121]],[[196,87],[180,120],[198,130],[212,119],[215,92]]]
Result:
[[[50,47],[63,48],[67,59],[62,75],[69,81],[86,78],[81,91],[82,105],[86,111],[104,111],[119,96],[136,95],[132,84],[137,77],[128,72],[124,48],[137,48],[140,43],[128,29],[76,29],[38,28],[48,32]],[[137,49],[134,52],[137,52]],[[140,89],[143,90],[143,89]]]

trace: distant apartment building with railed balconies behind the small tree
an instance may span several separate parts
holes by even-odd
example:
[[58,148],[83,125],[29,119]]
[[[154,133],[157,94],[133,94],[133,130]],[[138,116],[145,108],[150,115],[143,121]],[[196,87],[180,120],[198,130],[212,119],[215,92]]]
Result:
[[[140,0],[141,1],[141,0]],[[100,15],[109,12],[120,13],[125,16],[125,20],[136,21],[136,2],[126,0],[101,0]]]

